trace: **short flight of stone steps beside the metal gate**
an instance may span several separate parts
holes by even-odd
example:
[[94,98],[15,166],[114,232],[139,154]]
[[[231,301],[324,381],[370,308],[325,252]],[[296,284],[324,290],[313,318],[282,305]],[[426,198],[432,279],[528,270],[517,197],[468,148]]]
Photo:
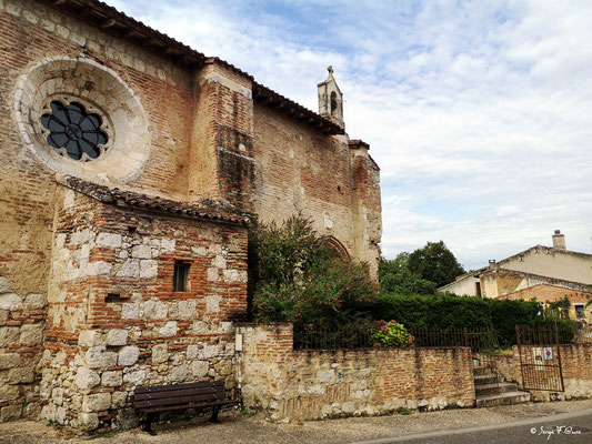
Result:
[[520,392],[515,383],[498,382],[494,370],[474,367],[473,371],[478,407],[520,404],[530,401],[530,393]]

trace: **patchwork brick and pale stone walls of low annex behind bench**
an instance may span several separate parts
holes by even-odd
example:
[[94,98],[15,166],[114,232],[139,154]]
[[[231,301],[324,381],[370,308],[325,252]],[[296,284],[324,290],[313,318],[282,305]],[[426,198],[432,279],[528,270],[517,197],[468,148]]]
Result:
[[[138,420],[137,386],[224,379],[231,387],[233,321],[247,310],[247,229],[62,194],[42,417],[127,428]],[[173,291],[175,261],[190,264],[184,292]]]

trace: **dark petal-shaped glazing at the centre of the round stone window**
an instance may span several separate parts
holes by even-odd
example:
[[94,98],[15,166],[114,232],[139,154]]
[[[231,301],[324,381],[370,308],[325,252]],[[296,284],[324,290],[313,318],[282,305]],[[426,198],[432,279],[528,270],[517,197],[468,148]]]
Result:
[[41,124],[49,130],[47,141],[50,147],[73,160],[98,159],[103,152],[101,145],[108,141],[101,130],[101,117],[88,113],[78,102],[63,104],[54,100],[50,108],[51,114],[41,115]]

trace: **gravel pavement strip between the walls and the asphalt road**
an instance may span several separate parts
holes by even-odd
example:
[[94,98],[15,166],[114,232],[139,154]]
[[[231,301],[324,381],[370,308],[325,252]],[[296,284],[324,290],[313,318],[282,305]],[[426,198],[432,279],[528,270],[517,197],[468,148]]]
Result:
[[77,437],[70,432],[47,426],[42,422],[18,421],[0,424],[0,444],[40,443],[208,443],[208,444],[338,444],[384,436],[431,432],[446,428],[508,423],[565,412],[592,408],[592,400],[555,403],[529,403],[488,408],[448,410],[409,415],[350,417],[303,423],[273,424],[238,412],[220,415],[222,423],[212,424],[207,417],[157,424],[157,436],[140,430],[106,437]]

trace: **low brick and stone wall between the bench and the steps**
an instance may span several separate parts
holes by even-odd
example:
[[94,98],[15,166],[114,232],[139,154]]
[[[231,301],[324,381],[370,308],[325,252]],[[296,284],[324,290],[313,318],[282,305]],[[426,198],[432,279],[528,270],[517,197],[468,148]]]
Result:
[[244,406],[272,421],[473,406],[471,351],[293,350],[291,324],[238,327]]

